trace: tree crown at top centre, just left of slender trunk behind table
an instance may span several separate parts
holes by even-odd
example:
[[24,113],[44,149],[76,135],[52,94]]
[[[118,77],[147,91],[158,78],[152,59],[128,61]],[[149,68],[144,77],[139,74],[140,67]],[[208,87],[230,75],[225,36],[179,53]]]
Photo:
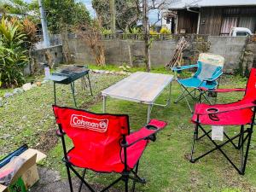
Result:
[[[102,20],[104,28],[111,28],[110,1],[113,0],[92,0],[92,6],[96,10],[99,20]],[[141,10],[137,6],[137,0],[115,0],[115,25],[124,32],[136,26],[137,20],[141,19]]]

